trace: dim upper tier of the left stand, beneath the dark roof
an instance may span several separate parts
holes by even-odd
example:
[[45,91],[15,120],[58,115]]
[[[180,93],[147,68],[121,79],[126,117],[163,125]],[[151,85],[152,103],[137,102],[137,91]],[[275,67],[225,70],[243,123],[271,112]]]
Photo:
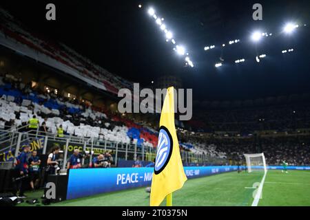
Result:
[[[41,62],[53,64],[56,69],[65,70],[65,72],[113,94],[117,94],[120,88],[132,89],[132,82],[107,72],[63,43],[42,40],[41,36],[39,38],[35,34],[31,34],[20,23],[17,23],[6,10],[0,8],[0,13],[1,44],[18,48],[32,58],[42,58]],[[21,47],[21,45],[25,45],[27,48]]]

